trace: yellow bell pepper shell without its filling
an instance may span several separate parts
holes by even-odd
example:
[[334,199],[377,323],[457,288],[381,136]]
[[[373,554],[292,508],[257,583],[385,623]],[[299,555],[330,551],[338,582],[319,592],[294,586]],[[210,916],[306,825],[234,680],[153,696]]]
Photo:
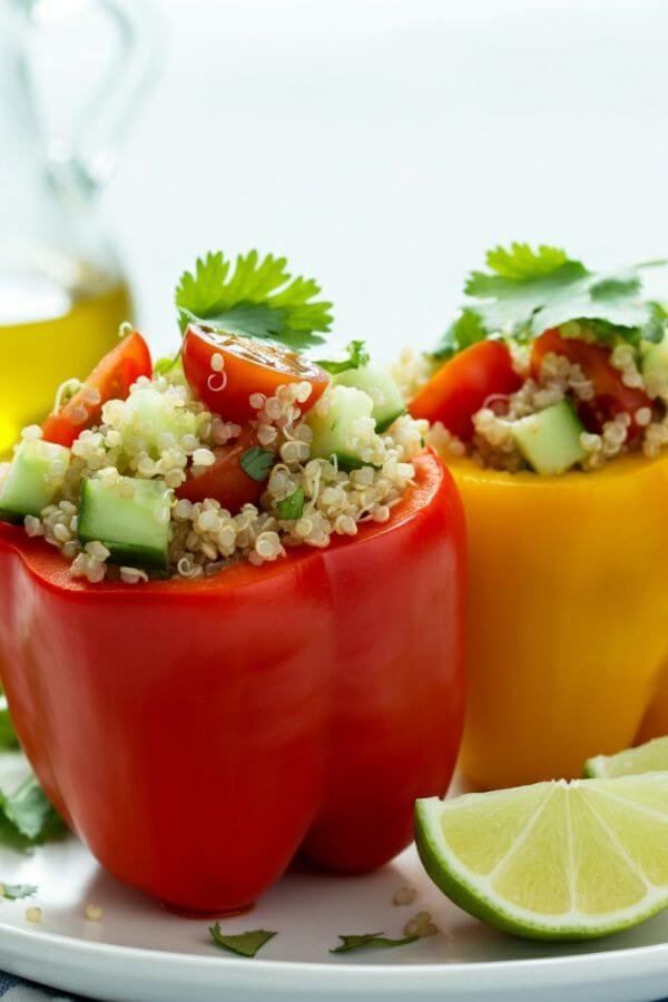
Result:
[[668,455],[547,478],[450,466],[470,540],[468,777],[578,776],[668,733]]

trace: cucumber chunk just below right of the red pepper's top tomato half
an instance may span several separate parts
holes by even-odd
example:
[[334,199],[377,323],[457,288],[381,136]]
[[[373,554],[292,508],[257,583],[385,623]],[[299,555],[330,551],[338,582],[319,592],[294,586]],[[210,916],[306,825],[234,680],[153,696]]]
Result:
[[330,459],[335,455],[342,470],[364,465],[364,443],[355,432],[356,421],[371,418],[373,400],[354,386],[331,386],[322,401],[308,412],[313,432],[311,455]]

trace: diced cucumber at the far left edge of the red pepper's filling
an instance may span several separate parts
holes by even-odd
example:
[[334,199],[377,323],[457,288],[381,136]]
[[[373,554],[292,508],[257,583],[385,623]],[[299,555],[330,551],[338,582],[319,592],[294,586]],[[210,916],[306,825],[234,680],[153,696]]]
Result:
[[[27,514],[39,515],[56,499],[60,472],[65,475],[70,458],[65,445],[42,439],[21,442],[0,488],[0,519],[19,522]],[[55,463],[59,466],[55,468]]]

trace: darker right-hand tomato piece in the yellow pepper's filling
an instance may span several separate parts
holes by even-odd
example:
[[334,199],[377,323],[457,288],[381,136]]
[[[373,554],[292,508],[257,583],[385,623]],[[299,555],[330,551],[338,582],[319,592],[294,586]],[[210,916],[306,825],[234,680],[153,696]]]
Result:
[[581,401],[578,413],[586,428],[592,432],[602,431],[606,421],[617,414],[628,414],[631,419],[627,441],[632,442],[642,428],[636,421],[636,411],[641,407],[652,410],[652,401],[644,390],[625,386],[621,373],[610,364],[610,351],[600,344],[590,344],[574,337],[562,337],[556,327],[550,327],[538,337],[531,350],[531,374],[539,379],[542,361],[547,354],[564,355],[569,362],[578,364],[595,390],[592,401]]

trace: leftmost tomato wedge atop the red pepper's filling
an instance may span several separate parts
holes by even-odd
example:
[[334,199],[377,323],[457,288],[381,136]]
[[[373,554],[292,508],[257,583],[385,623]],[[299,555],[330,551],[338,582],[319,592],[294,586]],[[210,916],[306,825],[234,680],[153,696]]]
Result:
[[[138,331],[132,331],[101,358],[81,390],[59,411],[49,414],[42,424],[45,440],[70,446],[86,428],[100,423],[102,404],[108,400],[126,400],[132,383],[139,376],[151,374],[148,345]],[[99,403],[88,403],[86,390],[97,390]]]

